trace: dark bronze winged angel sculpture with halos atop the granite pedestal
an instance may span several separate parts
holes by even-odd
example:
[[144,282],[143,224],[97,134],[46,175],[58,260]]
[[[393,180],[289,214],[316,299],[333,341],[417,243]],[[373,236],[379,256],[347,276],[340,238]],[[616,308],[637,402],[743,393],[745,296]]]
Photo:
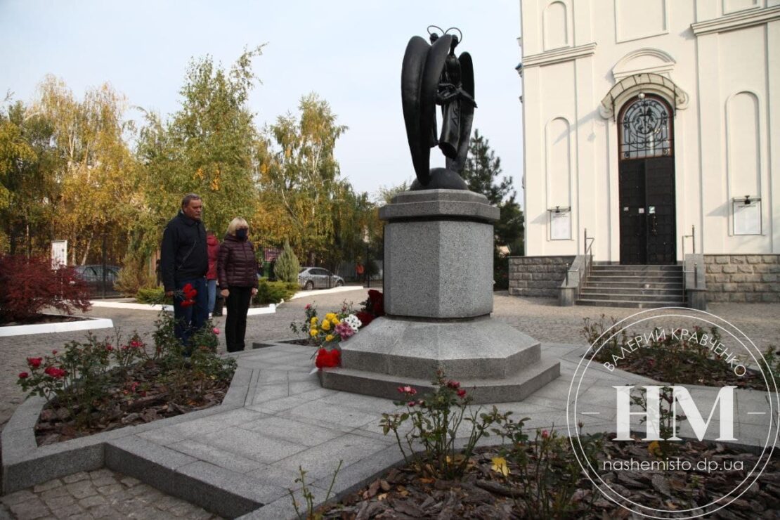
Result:
[[[441,36],[431,31],[441,31]],[[449,34],[456,30],[460,37]],[[406,137],[417,180],[411,189],[468,189],[459,173],[466,164],[474,108],[474,69],[471,55],[455,55],[463,40],[456,27],[428,27],[431,44],[419,36],[406,45],[401,70],[401,100]],[[436,105],[441,106],[441,135],[437,135]],[[431,147],[446,157],[445,168],[430,168]]]

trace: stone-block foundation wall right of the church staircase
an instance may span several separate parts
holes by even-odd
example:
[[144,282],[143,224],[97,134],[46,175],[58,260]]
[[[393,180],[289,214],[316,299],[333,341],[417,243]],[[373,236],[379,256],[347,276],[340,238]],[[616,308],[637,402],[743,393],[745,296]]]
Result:
[[708,302],[780,302],[780,255],[704,255],[704,265]]

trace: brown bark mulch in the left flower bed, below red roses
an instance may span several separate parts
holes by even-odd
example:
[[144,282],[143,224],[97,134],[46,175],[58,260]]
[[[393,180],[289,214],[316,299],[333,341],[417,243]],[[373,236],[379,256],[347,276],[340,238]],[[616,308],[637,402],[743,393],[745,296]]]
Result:
[[230,387],[229,379],[185,380],[172,395],[168,386],[157,382],[160,372],[154,363],[140,363],[129,369],[126,378],[117,373],[95,405],[93,426],[76,428],[66,407],[56,399],[49,402],[35,426],[38,446],[218,406]]

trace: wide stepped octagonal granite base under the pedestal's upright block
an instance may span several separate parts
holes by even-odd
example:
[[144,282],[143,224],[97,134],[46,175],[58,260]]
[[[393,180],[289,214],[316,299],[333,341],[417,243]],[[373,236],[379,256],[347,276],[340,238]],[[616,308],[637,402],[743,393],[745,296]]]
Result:
[[323,387],[397,399],[396,388],[432,388],[437,370],[475,403],[521,401],[560,375],[539,342],[490,317],[457,322],[378,318],[341,344],[342,367],[321,370]]

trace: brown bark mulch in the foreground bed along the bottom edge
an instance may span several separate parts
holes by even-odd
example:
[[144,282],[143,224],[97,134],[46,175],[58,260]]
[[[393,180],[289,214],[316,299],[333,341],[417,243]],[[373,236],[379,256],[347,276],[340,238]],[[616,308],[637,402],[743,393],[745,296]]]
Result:
[[[657,460],[637,445],[610,445],[605,456],[612,459]],[[345,497],[339,504],[321,509],[323,518],[632,518],[632,513],[608,501],[590,480],[582,477],[573,490],[566,511],[540,516],[523,500],[523,486],[517,480],[516,465],[508,462],[509,473],[495,471],[498,447],[478,448],[468,470],[458,481],[420,477],[416,469],[391,469],[369,486]],[[744,462],[744,471],[719,477],[690,471],[614,471],[602,473],[613,489],[636,503],[655,508],[697,507],[724,496],[741,481],[758,456],[750,451],[720,443],[686,442],[675,455],[681,460],[733,460]],[[527,474],[534,475],[531,463]],[[706,486],[701,482],[706,477]],[[538,504],[537,504],[538,506]],[[685,506],[685,507],[683,507]],[[728,507],[707,518],[780,518],[780,461],[773,458],[761,478]]]

